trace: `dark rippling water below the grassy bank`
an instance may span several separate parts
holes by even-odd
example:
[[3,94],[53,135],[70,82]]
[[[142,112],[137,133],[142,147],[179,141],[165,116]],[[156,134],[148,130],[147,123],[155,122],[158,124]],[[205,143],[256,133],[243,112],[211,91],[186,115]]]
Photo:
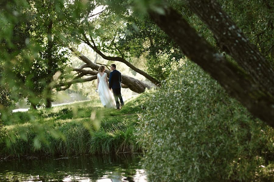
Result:
[[137,154],[33,157],[0,161],[0,181],[146,182]]

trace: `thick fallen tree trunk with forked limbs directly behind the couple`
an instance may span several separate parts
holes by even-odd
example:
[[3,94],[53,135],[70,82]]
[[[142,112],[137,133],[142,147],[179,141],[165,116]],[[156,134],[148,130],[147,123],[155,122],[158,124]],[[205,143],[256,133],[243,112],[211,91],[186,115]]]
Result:
[[[83,75],[97,75],[97,71],[93,71],[93,70],[85,70],[83,68],[91,68],[91,69],[94,69],[94,70],[98,70],[99,69],[99,66],[94,64],[89,58],[87,58],[86,56],[84,56],[82,53],[80,53],[79,51],[77,51],[76,49],[73,49],[73,48],[69,48],[72,52],[75,53],[76,56],[78,56],[79,59],[81,59],[83,62],[85,62],[86,64],[83,65],[83,66],[80,66],[79,68],[77,69],[72,69],[72,71],[77,71],[77,72],[80,72],[81,74]],[[105,70],[105,73],[107,73],[107,76],[109,77],[111,71],[109,70]],[[147,84],[141,82],[140,80],[137,80],[135,78],[132,78],[130,76],[126,76],[126,75],[123,75],[121,74],[122,76],[122,87],[123,88],[129,88],[131,89],[133,92],[136,92],[136,93],[142,93],[145,91],[146,88],[150,88]],[[93,77],[94,78],[94,77]],[[90,77],[91,79],[91,77]],[[97,79],[97,77],[95,78]],[[93,80],[93,79],[92,79]],[[74,81],[72,80],[70,83],[78,83],[78,81],[80,82],[84,82],[84,80],[77,80],[77,81]],[[91,81],[91,80],[87,80],[87,81]],[[68,84],[68,85],[69,85]],[[67,85],[67,86],[68,86]],[[56,85],[54,86],[55,88],[56,87],[60,87],[60,86],[65,86],[65,85]],[[70,86],[70,85],[69,85]],[[68,86],[68,87],[69,87]],[[62,88],[61,88],[62,89]]]

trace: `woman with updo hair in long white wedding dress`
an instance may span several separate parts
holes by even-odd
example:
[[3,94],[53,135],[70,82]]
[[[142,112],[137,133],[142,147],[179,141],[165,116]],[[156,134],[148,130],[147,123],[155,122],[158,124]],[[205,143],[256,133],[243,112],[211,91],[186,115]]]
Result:
[[99,73],[97,73],[97,88],[100,100],[104,107],[108,108],[116,108],[115,100],[109,89],[107,82],[107,73],[105,73],[105,66],[101,65],[98,69]]

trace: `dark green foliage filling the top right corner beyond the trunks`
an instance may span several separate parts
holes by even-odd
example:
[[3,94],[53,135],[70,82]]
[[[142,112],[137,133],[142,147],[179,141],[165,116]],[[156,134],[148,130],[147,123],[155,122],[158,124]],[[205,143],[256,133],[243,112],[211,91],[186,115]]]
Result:
[[264,0],[258,3],[251,0],[238,3],[220,0],[219,3],[274,66],[274,2]]

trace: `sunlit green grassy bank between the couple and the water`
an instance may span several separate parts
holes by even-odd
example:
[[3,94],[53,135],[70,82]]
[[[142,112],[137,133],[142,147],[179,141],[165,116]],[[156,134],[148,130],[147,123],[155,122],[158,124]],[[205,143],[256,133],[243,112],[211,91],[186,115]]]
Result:
[[100,101],[75,102],[37,111],[17,112],[0,132],[2,155],[95,154],[138,151],[134,136],[142,96],[121,110]]

